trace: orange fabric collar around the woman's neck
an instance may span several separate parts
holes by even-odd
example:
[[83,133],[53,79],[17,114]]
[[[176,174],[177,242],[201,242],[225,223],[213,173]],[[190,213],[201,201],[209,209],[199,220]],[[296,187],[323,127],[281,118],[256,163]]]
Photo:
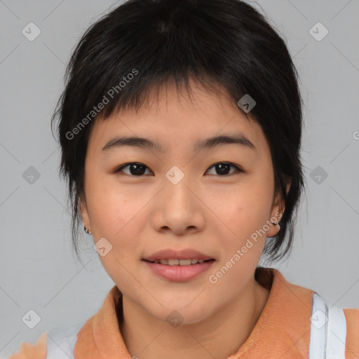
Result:
[[[257,267],[255,279],[270,290],[269,298],[248,339],[227,359],[306,358],[313,290],[287,282],[273,268]],[[115,285],[100,310],[81,328],[75,359],[131,359],[119,330],[121,320],[122,294]]]

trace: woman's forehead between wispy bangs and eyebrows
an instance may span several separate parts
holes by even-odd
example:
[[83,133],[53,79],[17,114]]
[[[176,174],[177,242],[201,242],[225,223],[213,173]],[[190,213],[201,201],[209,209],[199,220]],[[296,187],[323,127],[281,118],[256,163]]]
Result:
[[198,140],[222,134],[243,135],[255,147],[265,141],[262,128],[250,116],[246,118],[224,91],[211,93],[191,83],[188,96],[170,83],[154,91],[138,111],[126,109],[96,119],[88,149],[101,151],[115,137],[126,136],[147,138],[158,143],[161,151],[170,147],[195,150],[201,147]]

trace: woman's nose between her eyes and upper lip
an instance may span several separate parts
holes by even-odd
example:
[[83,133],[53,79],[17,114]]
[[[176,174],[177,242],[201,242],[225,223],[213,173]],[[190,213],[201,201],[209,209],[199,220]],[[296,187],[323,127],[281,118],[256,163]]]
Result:
[[177,236],[203,231],[206,207],[198,187],[187,176],[177,183],[165,178],[155,203],[151,224],[156,231]]

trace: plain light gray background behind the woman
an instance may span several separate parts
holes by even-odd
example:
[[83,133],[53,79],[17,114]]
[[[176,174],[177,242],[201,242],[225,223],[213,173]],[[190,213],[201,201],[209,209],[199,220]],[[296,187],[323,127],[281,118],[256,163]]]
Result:
[[[22,340],[34,343],[43,330],[90,318],[114,285],[92,237],[82,246],[86,265],[74,260],[50,116],[72,49],[90,24],[118,4],[0,1],[0,357],[17,351]],[[359,1],[258,4],[287,41],[306,105],[306,197],[292,255],[272,267],[330,304],[359,308]],[[41,29],[34,41],[22,34],[29,22]],[[329,31],[321,41],[309,32],[317,22]],[[30,166],[40,174],[33,184],[22,177]],[[32,330],[22,322],[29,309],[41,317]]]

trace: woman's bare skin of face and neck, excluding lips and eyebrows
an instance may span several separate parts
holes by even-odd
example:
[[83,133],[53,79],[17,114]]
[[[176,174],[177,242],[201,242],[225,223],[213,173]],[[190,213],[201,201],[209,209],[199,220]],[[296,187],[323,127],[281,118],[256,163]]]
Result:
[[[283,201],[274,198],[269,144],[226,93],[210,94],[193,81],[191,89],[189,100],[170,84],[138,113],[121,111],[94,123],[88,141],[81,216],[95,243],[104,237],[112,245],[99,257],[123,293],[123,340],[141,359],[226,358],[248,339],[269,297],[254,273],[276,225],[252,241],[217,283],[209,281],[252,233],[283,213]],[[237,133],[256,149],[225,144],[193,151],[196,140]],[[145,137],[164,151],[121,147],[104,153],[116,135]],[[128,162],[146,167],[140,176],[130,167],[114,173]],[[213,166],[222,162],[244,172],[229,167],[222,175]],[[165,177],[173,165],[184,173],[178,184]],[[192,248],[216,262],[192,280],[165,280],[141,260],[163,248]],[[183,317],[178,327],[166,320],[174,310]]]

